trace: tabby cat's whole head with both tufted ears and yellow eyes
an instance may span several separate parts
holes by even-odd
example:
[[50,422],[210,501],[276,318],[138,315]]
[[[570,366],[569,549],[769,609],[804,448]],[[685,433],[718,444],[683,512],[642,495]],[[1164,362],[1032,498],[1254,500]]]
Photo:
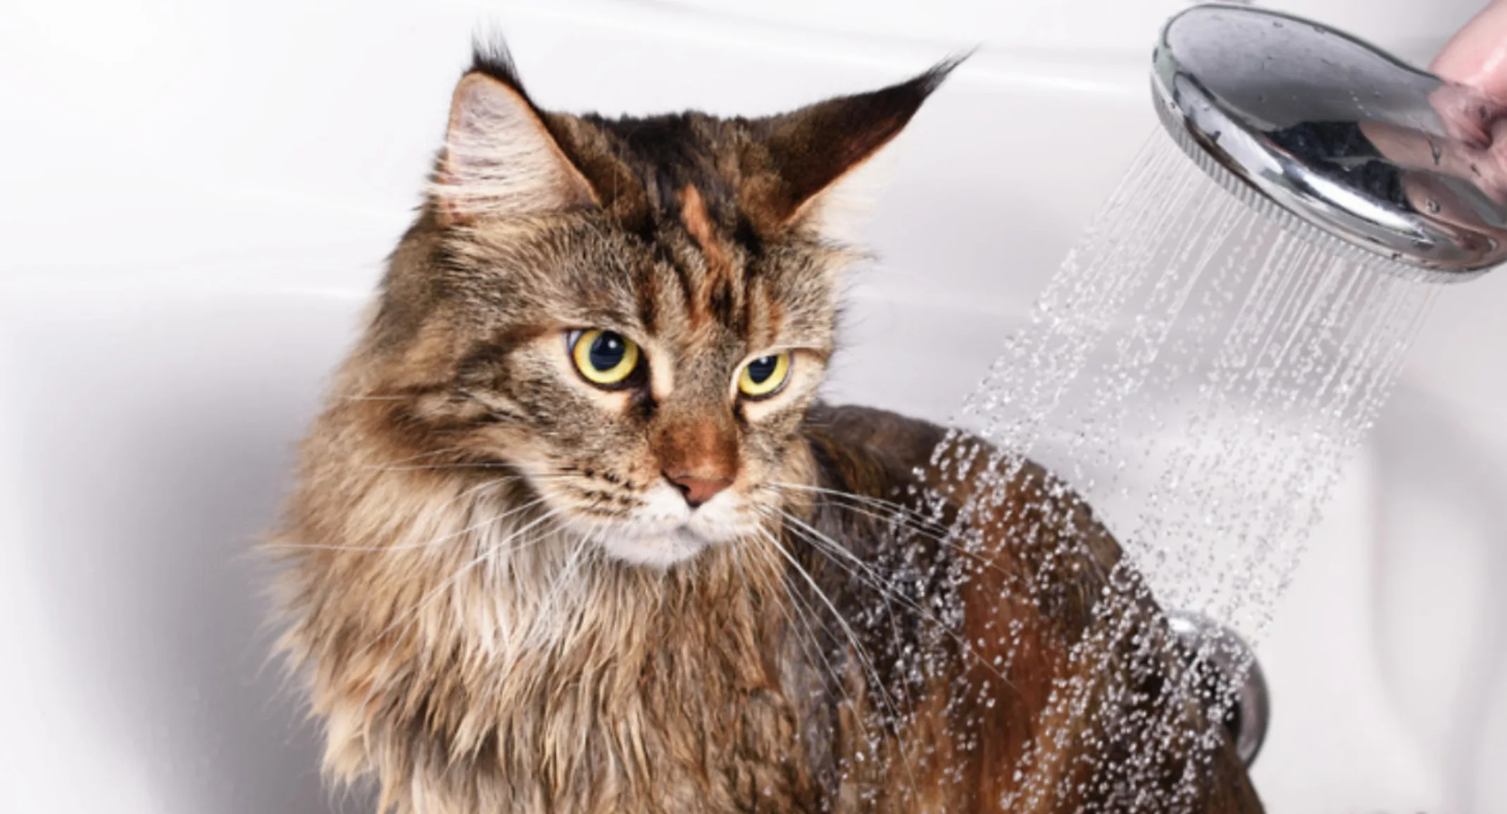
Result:
[[365,344],[392,436],[515,469],[619,561],[754,534],[833,350],[836,188],[951,65],[761,119],[613,121],[540,110],[479,53]]

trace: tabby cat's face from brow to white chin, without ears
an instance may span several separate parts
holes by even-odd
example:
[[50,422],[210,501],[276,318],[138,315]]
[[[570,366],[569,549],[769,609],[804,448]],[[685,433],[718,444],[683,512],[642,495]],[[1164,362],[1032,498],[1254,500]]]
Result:
[[591,213],[452,231],[436,279],[454,294],[425,327],[454,374],[420,413],[517,467],[567,528],[656,565],[776,511],[833,324],[832,274],[809,265],[829,250],[729,246],[717,267],[665,231],[643,246]]

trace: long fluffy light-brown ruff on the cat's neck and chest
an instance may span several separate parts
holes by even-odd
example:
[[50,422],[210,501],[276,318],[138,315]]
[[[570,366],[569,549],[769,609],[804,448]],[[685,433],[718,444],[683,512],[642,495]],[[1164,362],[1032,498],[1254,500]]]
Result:
[[[779,683],[764,657],[788,618],[779,555],[747,541],[668,570],[625,565],[550,523],[530,494],[389,472],[344,502],[342,525],[369,537],[318,552],[322,579],[350,580],[322,589],[359,592],[360,610],[310,614],[286,638],[297,662],[316,666],[330,775],[354,782],[375,767],[384,788],[402,787],[392,781],[423,760],[408,731],[422,722],[448,760],[515,745],[497,758],[499,794],[570,794],[571,809],[589,811],[600,800],[595,784],[579,782],[586,763],[619,793],[648,784],[666,772],[647,763],[665,754],[666,733],[716,733],[726,710],[711,699]],[[702,693],[711,686],[723,689]],[[666,727],[666,710],[681,724]]]

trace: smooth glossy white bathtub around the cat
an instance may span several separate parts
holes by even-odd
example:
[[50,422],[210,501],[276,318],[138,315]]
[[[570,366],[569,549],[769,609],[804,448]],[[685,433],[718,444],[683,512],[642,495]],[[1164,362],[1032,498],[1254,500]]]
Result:
[[[1180,3],[856,2],[0,12],[0,811],[359,808],[246,552],[478,21],[544,104],[606,112],[773,112],[984,42],[900,146],[830,384],[945,419],[1154,127]],[[1285,6],[1417,57],[1472,11]],[[1507,811],[1502,309],[1507,279],[1447,292],[1261,642],[1273,812]]]

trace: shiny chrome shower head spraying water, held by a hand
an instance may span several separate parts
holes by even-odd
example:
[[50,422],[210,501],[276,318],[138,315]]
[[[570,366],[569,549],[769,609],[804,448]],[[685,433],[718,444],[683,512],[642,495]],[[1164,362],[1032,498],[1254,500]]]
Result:
[[1507,261],[1507,188],[1489,181],[1481,143],[1498,107],[1468,87],[1317,23],[1233,5],[1169,20],[1151,84],[1200,167],[1308,240],[1433,282]]

